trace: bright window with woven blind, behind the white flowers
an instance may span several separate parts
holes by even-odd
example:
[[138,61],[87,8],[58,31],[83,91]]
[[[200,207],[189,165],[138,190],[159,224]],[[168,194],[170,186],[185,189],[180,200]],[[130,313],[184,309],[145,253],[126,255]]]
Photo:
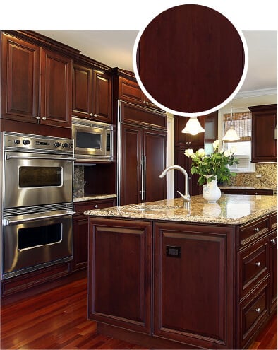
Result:
[[231,114],[225,113],[223,116],[224,133],[229,129],[231,123],[236,129],[238,136],[241,138],[238,141],[224,141],[223,148],[236,148],[235,156],[239,163],[229,166],[231,171],[236,173],[254,173],[255,163],[251,163],[251,112],[237,112]]

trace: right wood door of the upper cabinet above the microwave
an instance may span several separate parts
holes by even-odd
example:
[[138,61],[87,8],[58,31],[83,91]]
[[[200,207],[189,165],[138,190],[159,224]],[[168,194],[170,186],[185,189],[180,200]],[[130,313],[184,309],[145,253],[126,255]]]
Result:
[[93,117],[101,122],[112,122],[112,78],[109,74],[94,71]]

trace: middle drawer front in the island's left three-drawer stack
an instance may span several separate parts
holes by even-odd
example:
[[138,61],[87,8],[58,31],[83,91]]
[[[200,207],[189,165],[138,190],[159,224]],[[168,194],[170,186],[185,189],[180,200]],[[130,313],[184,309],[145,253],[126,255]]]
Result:
[[239,296],[243,298],[269,274],[268,236],[239,253]]

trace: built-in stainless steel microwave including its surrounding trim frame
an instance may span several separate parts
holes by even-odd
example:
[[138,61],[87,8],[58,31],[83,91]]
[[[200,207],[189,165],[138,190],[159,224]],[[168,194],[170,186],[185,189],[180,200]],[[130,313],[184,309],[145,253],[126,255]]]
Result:
[[74,156],[77,161],[113,161],[113,125],[72,118]]

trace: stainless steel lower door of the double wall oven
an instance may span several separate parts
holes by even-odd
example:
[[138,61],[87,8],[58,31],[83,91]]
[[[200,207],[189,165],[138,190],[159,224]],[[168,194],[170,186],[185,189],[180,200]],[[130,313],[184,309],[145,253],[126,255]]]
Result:
[[4,218],[2,279],[73,258],[73,211]]

